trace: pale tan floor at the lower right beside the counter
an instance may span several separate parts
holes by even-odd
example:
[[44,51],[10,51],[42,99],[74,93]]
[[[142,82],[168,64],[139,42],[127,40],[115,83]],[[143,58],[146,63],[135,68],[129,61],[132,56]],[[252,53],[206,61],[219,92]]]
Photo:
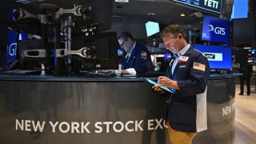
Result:
[[240,88],[236,86],[235,97],[235,130],[234,144],[254,144],[256,143],[256,92],[251,86],[252,93],[238,95]]

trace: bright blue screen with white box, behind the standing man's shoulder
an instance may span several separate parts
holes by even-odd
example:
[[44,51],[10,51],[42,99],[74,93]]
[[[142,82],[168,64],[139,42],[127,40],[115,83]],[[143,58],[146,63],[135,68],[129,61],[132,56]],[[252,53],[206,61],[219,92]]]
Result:
[[206,55],[210,69],[232,69],[230,46],[194,45],[194,49],[202,51],[202,53]]

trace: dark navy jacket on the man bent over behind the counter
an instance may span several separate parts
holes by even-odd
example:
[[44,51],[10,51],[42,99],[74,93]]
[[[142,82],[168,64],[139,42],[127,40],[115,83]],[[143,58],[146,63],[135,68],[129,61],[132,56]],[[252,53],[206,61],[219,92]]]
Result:
[[152,63],[149,50],[138,42],[136,42],[134,50],[130,54],[130,58],[126,58],[125,55],[124,59],[122,69],[134,68],[137,74],[145,74],[147,65]]

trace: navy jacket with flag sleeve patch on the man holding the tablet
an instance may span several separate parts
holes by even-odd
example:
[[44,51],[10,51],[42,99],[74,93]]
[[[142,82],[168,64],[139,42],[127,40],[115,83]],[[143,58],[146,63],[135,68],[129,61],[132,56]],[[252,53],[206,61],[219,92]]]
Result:
[[[167,77],[176,79],[179,86],[179,90],[170,98],[168,121],[174,130],[196,132],[196,94],[205,92],[210,67],[207,58],[191,47],[183,56],[188,57],[187,62],[178,62],[174,74],[171,74],[171,66],[166,73]],[[203,65],[206,66],[205,71],[197,70]]]

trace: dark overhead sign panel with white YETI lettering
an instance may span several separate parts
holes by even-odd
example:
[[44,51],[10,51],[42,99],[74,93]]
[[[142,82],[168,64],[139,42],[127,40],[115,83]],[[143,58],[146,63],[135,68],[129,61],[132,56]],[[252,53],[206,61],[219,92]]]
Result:
[[223,0],[172,0],[198,9],[222,14]]

